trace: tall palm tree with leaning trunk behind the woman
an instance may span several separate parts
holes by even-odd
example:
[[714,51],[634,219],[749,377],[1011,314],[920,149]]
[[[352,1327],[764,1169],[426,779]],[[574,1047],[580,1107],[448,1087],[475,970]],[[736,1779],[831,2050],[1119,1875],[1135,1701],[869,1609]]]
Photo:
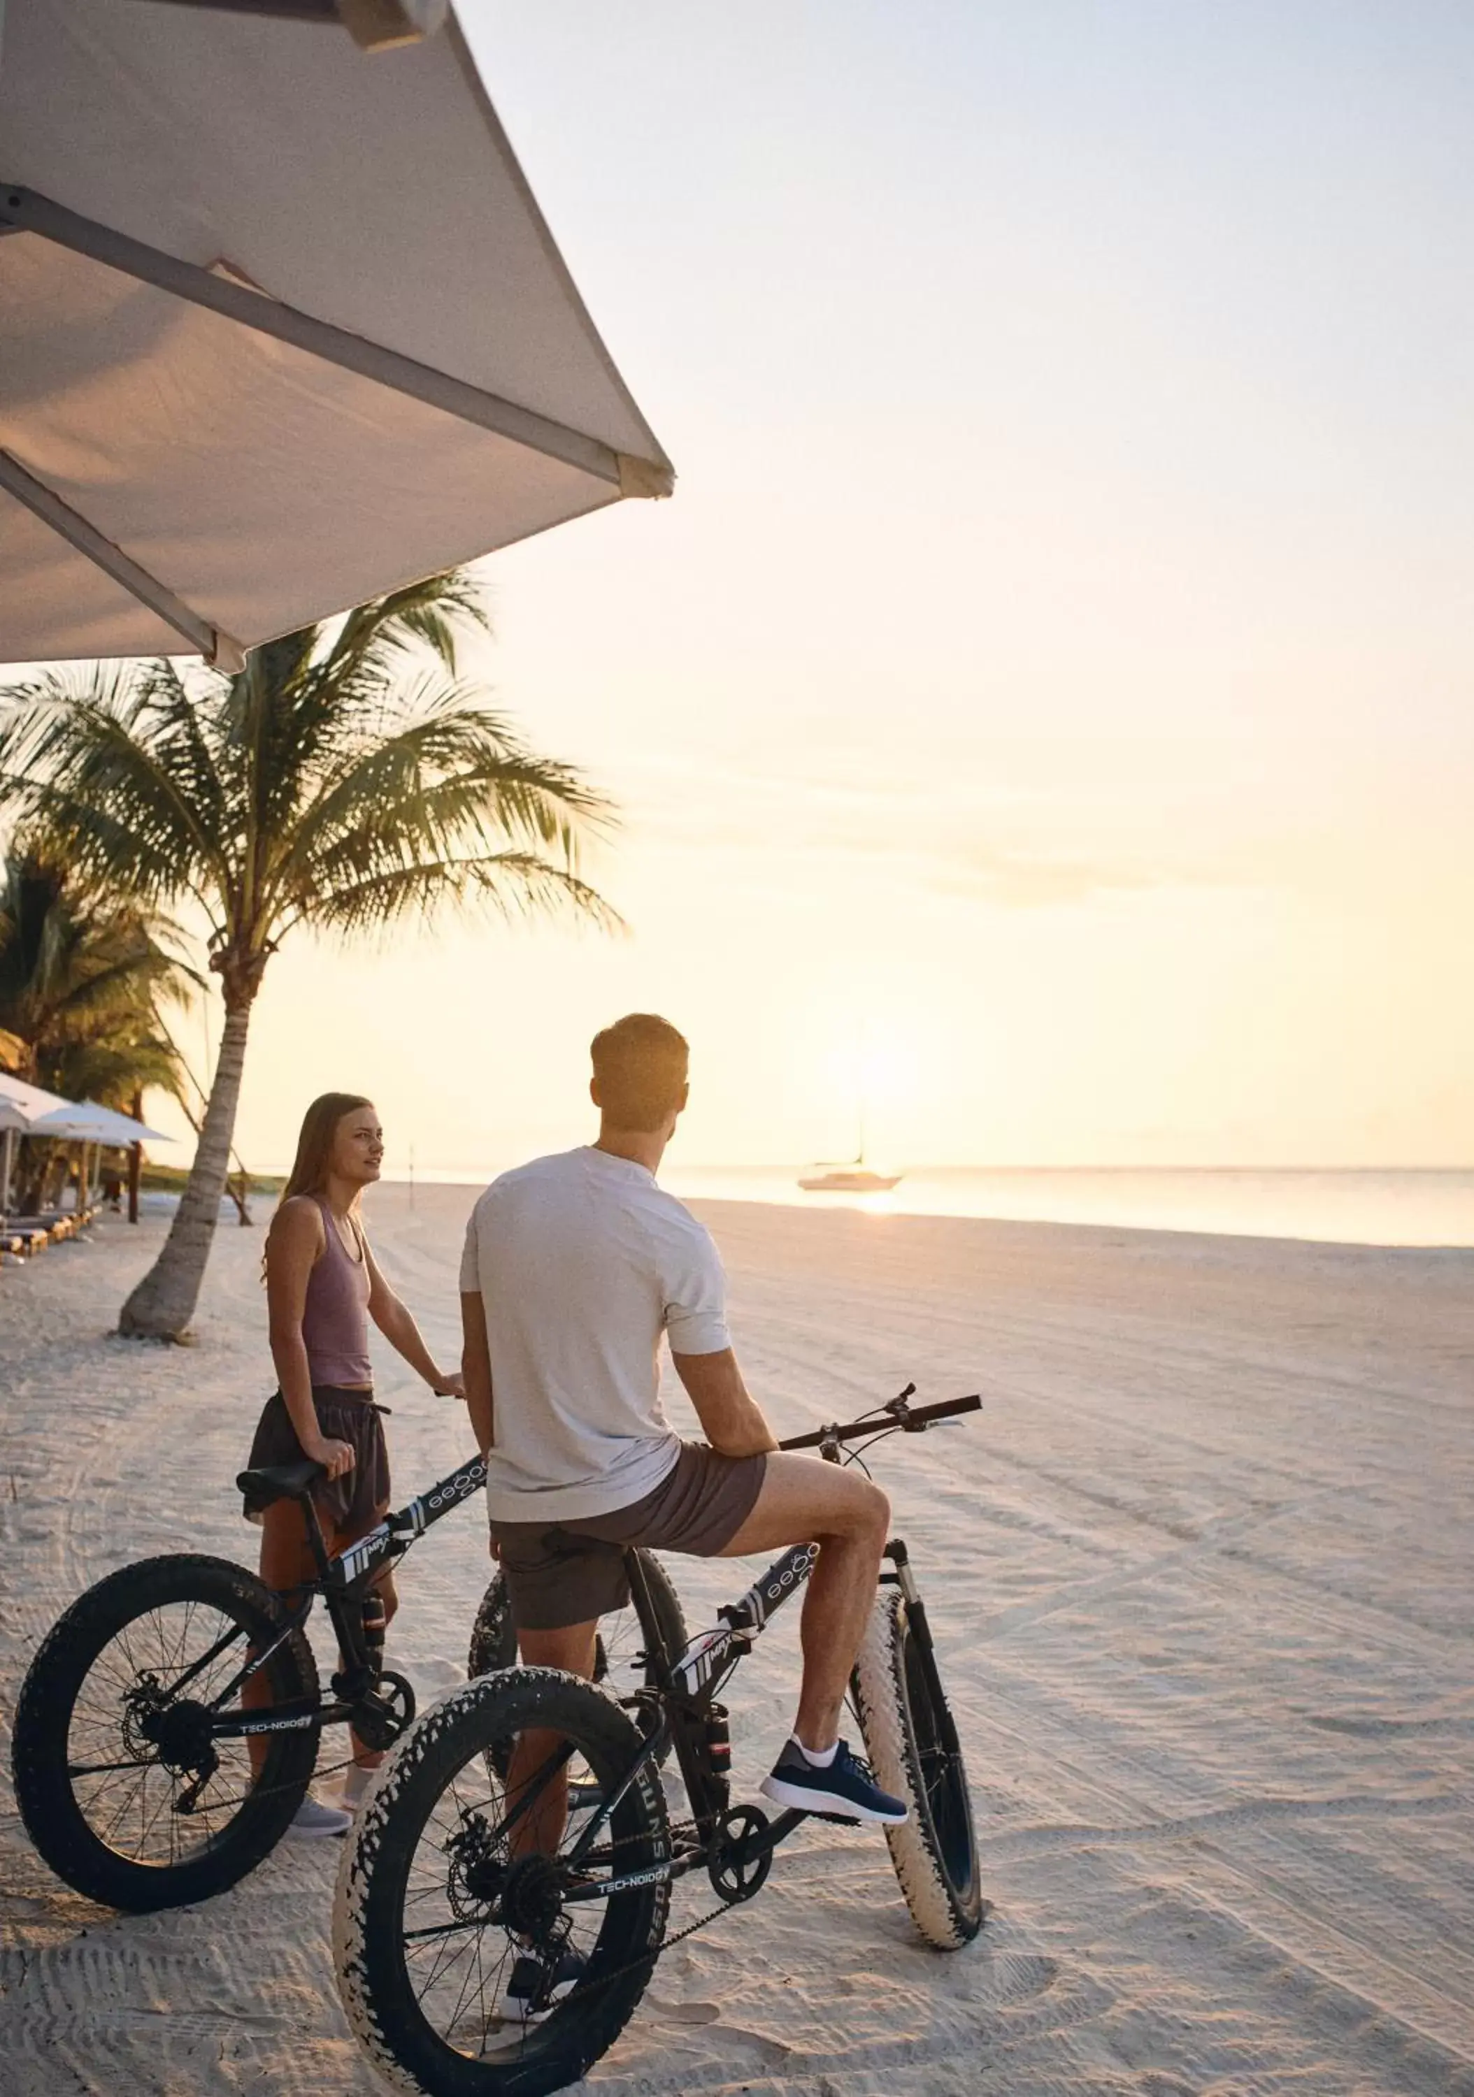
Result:
[[120,1329],[182,1338],[224,1189],[252,1004],[300,925],[363,935],[442,904],[614,914],[577,847],[608,803],[457,677],[486,631],[440,575],[191,686],[170,663],[44,671],[0,713],[0,799],[90,879],[208,921],[224,1025],[195,1164]]

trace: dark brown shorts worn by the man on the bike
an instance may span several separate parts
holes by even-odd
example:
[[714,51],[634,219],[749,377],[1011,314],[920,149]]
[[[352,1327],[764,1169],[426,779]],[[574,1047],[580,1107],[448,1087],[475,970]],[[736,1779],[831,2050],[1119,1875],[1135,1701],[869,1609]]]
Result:
[[717,1558],[757,1506],[765,1455],[719,1455],[705,1443],[681,1453],[654,1493],[612,1514],[568,1522],[493,1522],[518,1631],[562,1631],[629,1602],[625,1552]]

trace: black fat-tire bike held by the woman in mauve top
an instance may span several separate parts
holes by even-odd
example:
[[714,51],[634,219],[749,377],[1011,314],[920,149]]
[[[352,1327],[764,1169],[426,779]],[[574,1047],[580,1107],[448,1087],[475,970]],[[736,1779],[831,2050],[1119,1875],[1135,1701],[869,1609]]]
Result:
[[[304,1457],[237,1478],[260,1506],[289,1497],[304,1510],[317,1577],[291,1600],[226,1558],[170,1554],[99,1581],[40,1644],[15,1711],[15,1795],[40,1854],[88,1900],[151,1912],[222,1894],[285,1835],[323,1728],[352,1726],[382,1749],[411,1724],[413,1686],[380,1665],[363,1604],[384,1566],[484,1487],[486,1466],[461,1464],[333,1556],[310,1497],[323,1476]],[[650,1579],[652,1592],[663,1581],[660,1621],[679,1648],[679,1602],[654,1564]],[[495,1594],[493,1581],[472,1640],[474,1671],[503,1665],[512,1625]],[[319,1596],[340,1650],[327,1688],[306,1640]],[[627,1646],[627,1623],[604,1625],[610,1686],[623,1688],[640,1665]],[[241,1692],[252,1678],[268,1694],[247,1709]],[[252,1738],[266,1743],[256,1774]]]

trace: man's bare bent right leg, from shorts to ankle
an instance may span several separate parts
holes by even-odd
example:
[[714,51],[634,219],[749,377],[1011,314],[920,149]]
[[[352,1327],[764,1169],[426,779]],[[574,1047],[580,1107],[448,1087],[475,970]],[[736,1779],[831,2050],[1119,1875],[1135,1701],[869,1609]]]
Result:
[[839,1713],[860,1652],[891,1504],[879,1485],[807,1455],[769,1455],[753,1512],[721,1552],[744,1558],[784,1543],[818,1543],[803,1598],[803,1688],[795,1734],[814,1753],[839,1738]]

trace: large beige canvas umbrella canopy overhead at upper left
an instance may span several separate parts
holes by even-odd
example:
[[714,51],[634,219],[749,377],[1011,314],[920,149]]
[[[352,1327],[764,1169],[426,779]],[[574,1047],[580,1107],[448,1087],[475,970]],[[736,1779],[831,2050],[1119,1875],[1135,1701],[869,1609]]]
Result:
[[0,23],[0,661],[233,667],[671,491],[453,15]]

